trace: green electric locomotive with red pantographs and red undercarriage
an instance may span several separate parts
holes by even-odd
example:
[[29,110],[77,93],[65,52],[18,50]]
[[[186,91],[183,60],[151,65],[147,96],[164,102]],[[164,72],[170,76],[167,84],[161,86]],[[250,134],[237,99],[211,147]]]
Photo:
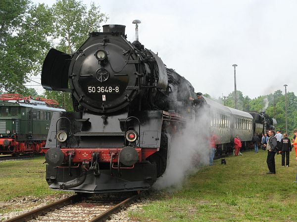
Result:
[[49,125],[57,108],[54,100],[0,95],[0,153],[19,155],[40,153],[46,144]]

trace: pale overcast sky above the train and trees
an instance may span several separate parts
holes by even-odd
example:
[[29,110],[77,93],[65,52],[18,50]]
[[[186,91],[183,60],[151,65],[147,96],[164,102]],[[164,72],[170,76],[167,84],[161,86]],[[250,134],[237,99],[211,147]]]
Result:
[[[55,0],[33,2],[51,6]],[[95,2],[109,16],[106,24],[126,26],[129,41],[135,40],[132,21],[141,20],[140,42],[196,92],[227,96],[237,64],[237,90],[245,96],[284,92],[284,84],[297,95],[297,0]]]

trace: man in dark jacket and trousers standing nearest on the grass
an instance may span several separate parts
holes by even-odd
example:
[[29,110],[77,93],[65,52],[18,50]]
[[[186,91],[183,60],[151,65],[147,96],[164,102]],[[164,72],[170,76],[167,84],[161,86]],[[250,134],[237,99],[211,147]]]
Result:
[[269,140],[267,142],[266,150],[267,150],[267,166],[269,172],[267,174],[275,174],[275,160],[274,156],[277,152],[277,141],[276,138],[273,136],[273,130],[268,131]]

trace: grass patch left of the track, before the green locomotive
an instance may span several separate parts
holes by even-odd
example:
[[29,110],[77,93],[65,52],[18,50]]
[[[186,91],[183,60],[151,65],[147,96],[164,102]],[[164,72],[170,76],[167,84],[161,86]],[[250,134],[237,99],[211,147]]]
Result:
[[[46,182],[45,157],[0,162],[0,214],[21,211],[38,204],[32,202],[26,206],[7,204],[7,200],[22,200],[24,197],[44,198],[61,194],[49,189]],[[16,201],[17,203],[17,201]]]

